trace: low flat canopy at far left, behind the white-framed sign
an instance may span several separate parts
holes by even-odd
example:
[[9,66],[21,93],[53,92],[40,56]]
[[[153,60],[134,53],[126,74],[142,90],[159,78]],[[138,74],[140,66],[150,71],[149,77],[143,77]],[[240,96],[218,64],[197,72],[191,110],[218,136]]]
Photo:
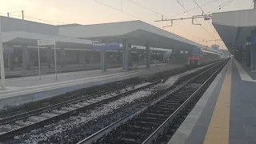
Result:
[[2,32],[2,42],[12,46],[37,46],[38,39],[55,40],[58,48],[91,49],[92,42],[86,39],[67,38],[63,36],[51,36],[21,31]]

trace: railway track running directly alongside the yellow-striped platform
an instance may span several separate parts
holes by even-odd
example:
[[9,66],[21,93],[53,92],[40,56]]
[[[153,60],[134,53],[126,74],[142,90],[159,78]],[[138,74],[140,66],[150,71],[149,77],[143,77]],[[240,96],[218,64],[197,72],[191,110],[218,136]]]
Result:
[[194,78],[176,86],[174,90],[162,95],[148,106],[133,114],[106,126],[97,133],[90,135],[78,144],[147,144],[153,143],[166,126],[170,125],[182,110],[193,102],[211,82],[218,71],[226,65],[226,61],[211,66]]

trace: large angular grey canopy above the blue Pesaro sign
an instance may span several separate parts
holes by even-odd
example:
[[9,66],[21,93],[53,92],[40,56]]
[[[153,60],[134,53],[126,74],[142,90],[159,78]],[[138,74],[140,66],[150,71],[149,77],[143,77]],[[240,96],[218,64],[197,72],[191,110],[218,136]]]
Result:
[[201,46],[186,38],[162,30],[142,21],[113,22],[82,26],[59,26],[59,34],[71,38],[90,39],[99,42],[119,42],[126,39],[131,45],[163,49],[186,49]]

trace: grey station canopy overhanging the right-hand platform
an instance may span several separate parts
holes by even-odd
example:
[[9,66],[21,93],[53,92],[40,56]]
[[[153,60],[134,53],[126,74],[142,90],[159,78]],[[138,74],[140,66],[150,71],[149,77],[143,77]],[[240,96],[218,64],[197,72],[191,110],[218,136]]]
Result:
[[213,25],[226,47],[237,49],[256,29],[256,9],[214,13]]

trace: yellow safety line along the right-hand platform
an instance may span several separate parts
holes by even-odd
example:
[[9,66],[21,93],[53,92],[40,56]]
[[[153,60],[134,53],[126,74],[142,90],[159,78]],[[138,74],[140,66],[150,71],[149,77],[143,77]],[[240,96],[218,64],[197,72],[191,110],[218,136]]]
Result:
[[232,62],[230,62],[222,90],[218,95],[204,144],[229,144],[231,74]]

